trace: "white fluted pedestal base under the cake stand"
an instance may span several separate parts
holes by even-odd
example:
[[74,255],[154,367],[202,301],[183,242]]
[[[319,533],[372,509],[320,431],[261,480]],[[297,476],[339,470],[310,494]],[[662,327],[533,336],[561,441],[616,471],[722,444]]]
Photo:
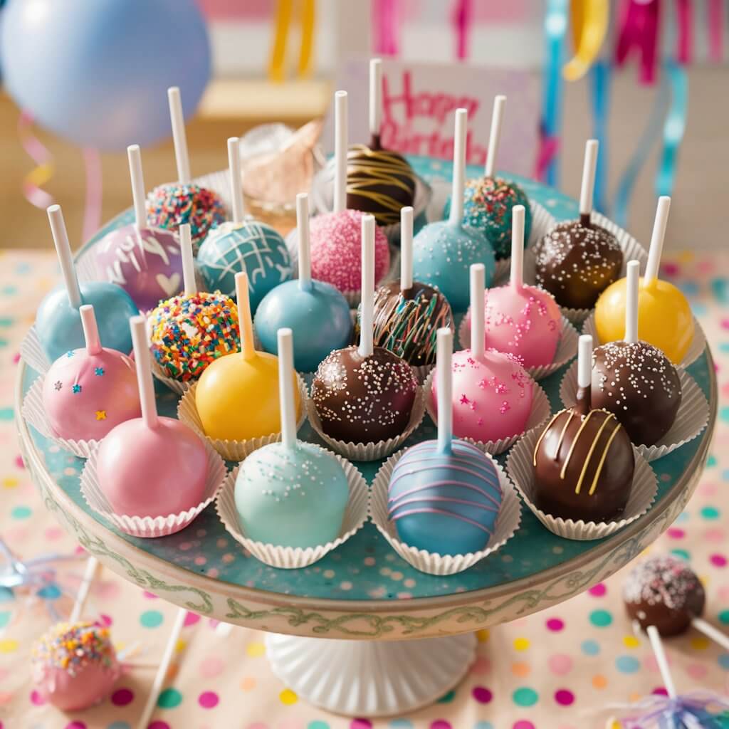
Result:
[[387,717],[428,706],[458,684],[476,636],[375,642],[268,634],[266,650],[273,673],[313,706]]

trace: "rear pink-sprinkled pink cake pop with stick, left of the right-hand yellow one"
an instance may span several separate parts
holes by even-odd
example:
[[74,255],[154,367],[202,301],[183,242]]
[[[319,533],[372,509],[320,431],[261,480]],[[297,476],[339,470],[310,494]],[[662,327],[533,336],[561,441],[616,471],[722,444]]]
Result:
[[[524,367],[551,364],[562,330],[562,315],[553,296],[523,279],[524,206],[512,208],[511,280],[486,289],[483,300],[484,346],[517,356]],[[465,330],[470,336],[471,312]]]

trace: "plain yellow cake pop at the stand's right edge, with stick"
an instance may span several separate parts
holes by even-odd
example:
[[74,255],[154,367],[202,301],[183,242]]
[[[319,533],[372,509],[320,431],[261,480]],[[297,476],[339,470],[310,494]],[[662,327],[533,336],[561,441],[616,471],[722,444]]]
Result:
[[[674,364],[684,358],[693,340],[693,314],[686,297],[673,284],[658,278],[663,236],[671,198],[658,199],[645,276],[638,293],[638,338],[658,347]],[[595,326],[601,343],[625,337],[626,279],[604,290],[595,306]]]

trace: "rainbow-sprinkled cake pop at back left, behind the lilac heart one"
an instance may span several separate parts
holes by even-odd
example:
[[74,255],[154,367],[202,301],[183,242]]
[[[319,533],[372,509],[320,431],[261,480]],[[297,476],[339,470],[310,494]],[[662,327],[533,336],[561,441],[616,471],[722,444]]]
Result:
[[190,223],[192,245],[197,249],[208,231],[225,221],[225,205],[215,192],[192,182],[179,88],[168,88],[167,96],[178,179],[177,182],[155,187],[149,193],[147,220],[152,227],[173,232],[176,232],[181,223]]

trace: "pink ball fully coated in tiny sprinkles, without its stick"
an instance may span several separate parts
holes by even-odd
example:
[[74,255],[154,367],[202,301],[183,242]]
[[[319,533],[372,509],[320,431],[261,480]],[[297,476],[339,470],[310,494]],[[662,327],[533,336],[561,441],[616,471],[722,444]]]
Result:
[[[362,288],[362,215],[359,210],[344,210],[311,219],[311,278],[345,293]],[[375,227],[375,283],[389,268],[387,236]]]

